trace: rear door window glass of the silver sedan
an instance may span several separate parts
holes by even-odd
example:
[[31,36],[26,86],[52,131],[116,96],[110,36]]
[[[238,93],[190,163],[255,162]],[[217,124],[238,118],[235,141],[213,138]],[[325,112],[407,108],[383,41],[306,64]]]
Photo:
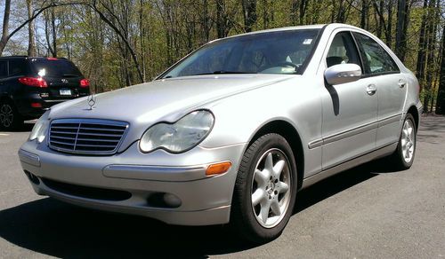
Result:
[[354,37],[359,44],[366,74],[378,75],[400,72],[394,60],[379,43],[376,43],[367,35],[359,33],[354,33]]

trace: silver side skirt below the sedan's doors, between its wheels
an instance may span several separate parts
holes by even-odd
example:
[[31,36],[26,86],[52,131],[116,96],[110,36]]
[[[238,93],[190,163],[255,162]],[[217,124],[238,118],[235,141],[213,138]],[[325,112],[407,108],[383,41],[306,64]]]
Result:
[[386,145],[382,148],[379,148],[375,151],[372,151],[370,153],[365,153],[363,155],[360,155],[357,158],[354,158],[350,161],[345,161],[339,165],[336,165],[329,169],[324,169],[320,173],[313,175],[311,177],[306,177],[303,179],[303,185],[301,189],[304,189],[306,187],[311,186],[312,184],[315,184],[317,182],[320,182],[321,180],[332,177],[336,175],[339,172],[342,172],[347,169],[352,169],[360,164],[366,163],[368,161],[373,161],[377,158],[384,157],[385,155],[391,154],[394,152],[394,150],[397,148],[397,142],[393,143],[391,145]]

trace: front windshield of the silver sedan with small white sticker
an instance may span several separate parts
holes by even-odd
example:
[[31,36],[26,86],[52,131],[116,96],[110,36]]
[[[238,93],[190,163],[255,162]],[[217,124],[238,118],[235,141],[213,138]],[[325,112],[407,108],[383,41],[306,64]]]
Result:
[[301,74],[320,29],[242,35],[208,43],[160,78],[213,74]]

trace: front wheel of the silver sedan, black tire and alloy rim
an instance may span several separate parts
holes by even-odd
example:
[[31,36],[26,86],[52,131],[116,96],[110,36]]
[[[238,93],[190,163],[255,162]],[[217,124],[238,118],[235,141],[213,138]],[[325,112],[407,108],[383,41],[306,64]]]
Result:
[[258,137],[239,166],[231,205],[233,231],[254,243],[279,237],[294,210],[296,177],[287,140],[275,133]]

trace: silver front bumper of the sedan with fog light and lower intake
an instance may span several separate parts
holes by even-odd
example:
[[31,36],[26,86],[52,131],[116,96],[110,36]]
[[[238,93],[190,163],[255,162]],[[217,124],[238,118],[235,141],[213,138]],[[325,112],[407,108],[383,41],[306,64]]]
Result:
[[[19,156],[38,194],[87,208],[149,216],[167,224],[208,225],[229,222],[245,145],[144,154],[135,142],[124,153],[84,156],[58,153],[45,143],[28,141]],[[231,161],[231,169],[206,177],[207,166],[220,161]]]

